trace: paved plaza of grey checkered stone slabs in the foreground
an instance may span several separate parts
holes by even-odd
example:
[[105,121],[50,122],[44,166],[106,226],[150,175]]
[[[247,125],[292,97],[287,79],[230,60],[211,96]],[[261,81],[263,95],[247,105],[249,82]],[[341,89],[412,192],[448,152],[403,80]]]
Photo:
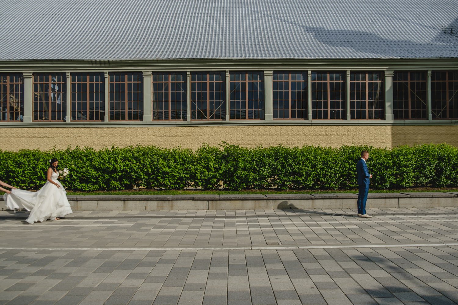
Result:
[[457,304],[458,208],[368,213],[2,211],[0,304]]

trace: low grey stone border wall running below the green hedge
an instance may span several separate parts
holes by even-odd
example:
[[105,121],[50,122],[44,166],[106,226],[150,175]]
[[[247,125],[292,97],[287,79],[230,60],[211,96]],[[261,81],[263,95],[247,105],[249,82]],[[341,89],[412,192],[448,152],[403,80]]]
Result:
[[[68,196],[74,211],[354,209],[356,193],[248,195],[100,195]],[[3,200],[0,197],[0,201]],[[368,208],[458,206],[458,192],[369,193]],[[3,208],[5,209],[5,208]],[[3,210],[2,209],[2,210]]]

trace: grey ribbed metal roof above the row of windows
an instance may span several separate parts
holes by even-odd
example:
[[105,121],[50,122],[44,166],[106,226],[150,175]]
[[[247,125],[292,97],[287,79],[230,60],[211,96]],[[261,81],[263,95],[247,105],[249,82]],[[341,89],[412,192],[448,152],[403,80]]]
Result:
[[0,0],[0,60],[458,58],[458,0]]

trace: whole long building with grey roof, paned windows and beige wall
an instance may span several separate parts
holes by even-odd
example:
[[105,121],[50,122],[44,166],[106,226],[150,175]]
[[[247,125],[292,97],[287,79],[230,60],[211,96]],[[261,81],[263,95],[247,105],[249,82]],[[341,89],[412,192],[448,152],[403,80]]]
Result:
[[458,1],[35,2],[0,21],[2,150],[458,146]]

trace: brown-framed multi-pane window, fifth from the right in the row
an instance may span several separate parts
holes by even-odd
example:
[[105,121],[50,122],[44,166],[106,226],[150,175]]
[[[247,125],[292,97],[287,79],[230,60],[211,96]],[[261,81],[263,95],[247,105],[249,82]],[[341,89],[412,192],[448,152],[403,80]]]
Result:
[[307,119],[307,73],[273,73],[273,118]]

